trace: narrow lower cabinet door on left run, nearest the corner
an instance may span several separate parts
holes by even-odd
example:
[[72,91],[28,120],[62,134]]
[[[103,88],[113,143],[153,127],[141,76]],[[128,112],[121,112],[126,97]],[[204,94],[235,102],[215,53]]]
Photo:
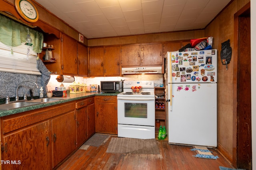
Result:
[[87,137],[95,133],[95,110],[94,104],[87,106]]

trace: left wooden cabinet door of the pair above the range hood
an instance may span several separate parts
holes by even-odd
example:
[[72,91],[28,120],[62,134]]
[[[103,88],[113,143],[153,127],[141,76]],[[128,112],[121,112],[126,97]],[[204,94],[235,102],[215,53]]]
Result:
[[140,45],[124,45],[121,47],[122,66],[140,66]]

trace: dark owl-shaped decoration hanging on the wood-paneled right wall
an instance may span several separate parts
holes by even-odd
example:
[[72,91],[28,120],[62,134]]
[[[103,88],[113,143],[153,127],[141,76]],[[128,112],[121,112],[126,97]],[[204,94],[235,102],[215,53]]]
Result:
[[232,48],[230,47],[230,40],[221,43],[220,59],[222,65],[226,65],[226,70],[228,70],[228,64],[230,63],[232,55]]

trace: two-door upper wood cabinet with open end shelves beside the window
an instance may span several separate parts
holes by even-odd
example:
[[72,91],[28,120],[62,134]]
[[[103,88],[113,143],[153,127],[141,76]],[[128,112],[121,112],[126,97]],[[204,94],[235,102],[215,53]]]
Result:
[[[54,46],[52,56],[54,62],[43,61],[47,69],[52,73],[64,75],[80,75],[88,77],[88,49],[85,45],[73,38],[61,34],[61,39],[52,36],[44,36],[44,42]],[[43,58],[45,52],[40,56]]]

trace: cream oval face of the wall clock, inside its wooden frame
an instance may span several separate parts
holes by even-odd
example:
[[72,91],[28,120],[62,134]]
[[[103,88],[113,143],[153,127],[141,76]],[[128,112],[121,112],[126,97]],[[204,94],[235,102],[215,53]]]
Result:
[[36,9],[32,4],[26,0],[20,1],[20,9],[28,18],[35,19],[37,16]]

